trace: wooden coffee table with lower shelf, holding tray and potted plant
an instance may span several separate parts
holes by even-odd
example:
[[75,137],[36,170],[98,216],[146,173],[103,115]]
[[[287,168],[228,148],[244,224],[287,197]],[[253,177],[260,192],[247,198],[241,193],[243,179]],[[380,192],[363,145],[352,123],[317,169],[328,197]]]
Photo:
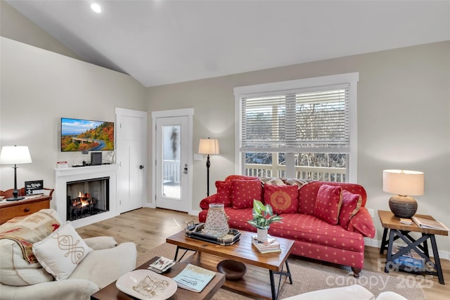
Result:
[[[278,299],[280,288],[287,278],[289,278],[291,285],[293,283],[289,270],[288,256],[294,242],[293,240],[276,237],[276,241],[281,246],[281,253],[260,254],[252,246],[251,239],[252,235],[255,234],[240,230],[240,240],[238,242],[229,246],[221,246],[186,237],[183,230],[167,237],[166,242],[176,244],[175,260],[178,259],[179,249],[195,251],[197,253],[184,262],[193,263],[196,266],[210,270],[217,270],[217,263],[224,259],[233,259],[234,261],[245,263],[247,273],[245,273],[243,278],[235,281],[226,280],[224,287],[275,300]],[[286,267],[285,271],[283,270],[284,266]],[[267,274],[267,270],[269,270],[269,274]],[[275,274],[280,275],[278,288],[275,285]],[[283,282],[282,278],[284,278]]]

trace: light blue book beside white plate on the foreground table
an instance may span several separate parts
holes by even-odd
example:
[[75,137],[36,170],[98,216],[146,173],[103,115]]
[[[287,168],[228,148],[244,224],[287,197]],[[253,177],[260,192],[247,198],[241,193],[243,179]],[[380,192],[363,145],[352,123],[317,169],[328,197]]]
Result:
[[172,279],[182,289],[200,293],[210,283],[212,278],[214,278],[214,275],[216,273],[212,270],[188,263],[188,266]]

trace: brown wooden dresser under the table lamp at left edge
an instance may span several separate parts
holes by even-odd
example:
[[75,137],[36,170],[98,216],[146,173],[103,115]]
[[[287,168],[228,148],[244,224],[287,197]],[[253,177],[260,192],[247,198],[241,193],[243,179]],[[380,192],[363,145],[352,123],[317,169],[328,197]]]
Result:
[[[51,191],[53,192],[53,190]],[[27,216],[50,208],[50,195],[26,196],[24,200],[0,202],[0,224],[16,216]]]

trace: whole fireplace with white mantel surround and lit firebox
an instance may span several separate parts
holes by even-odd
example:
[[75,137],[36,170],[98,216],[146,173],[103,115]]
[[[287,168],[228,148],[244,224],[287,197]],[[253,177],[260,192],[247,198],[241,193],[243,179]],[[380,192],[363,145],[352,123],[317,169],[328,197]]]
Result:
[[117,216],[117,164],[55,169],[55,178],[51,205],[63,221],[79,228]]

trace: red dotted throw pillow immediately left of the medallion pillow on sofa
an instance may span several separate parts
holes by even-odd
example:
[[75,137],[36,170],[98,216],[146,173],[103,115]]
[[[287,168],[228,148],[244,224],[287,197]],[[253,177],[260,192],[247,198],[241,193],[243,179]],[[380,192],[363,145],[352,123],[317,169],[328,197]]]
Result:
[[231,181],[231,201],[233,209],[248,209],[253,207],[253,200],[261,201],[261,181]]

